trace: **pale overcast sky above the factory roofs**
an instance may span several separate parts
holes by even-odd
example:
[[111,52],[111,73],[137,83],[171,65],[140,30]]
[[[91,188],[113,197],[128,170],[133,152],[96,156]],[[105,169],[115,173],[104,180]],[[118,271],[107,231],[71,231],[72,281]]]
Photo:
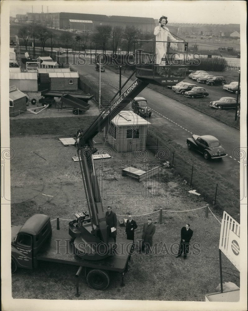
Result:
[[[8,0],[7,0],[8,1]],[[205,24],[240,24],[241,11],[246,11],[245,1],[225,0],[166,0],[166,1],[115,1],[115,0],[50,0],[10,2],[10,16],[26,12],[75,12],[103,15],[123,15],[168,17],[168,22],[205,23]]]

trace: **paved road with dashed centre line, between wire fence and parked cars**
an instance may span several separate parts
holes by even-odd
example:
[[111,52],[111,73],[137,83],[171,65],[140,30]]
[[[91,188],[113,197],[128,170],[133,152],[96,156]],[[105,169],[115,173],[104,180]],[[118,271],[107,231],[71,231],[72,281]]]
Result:
[[[99,72],[95,70],[94,65],[88,65],[88,63],[89,60],[87,60],[86,65],[71,65],[70,67],[82,74],[86,83],[87,81],[94,83],[97,89]],[[101,81],[102,95],[107,99],[111,99],[119,89],[119,74],[105,68],[105,72],[101,73]],[[124,81],[126,81],[126,78],[122,77],[122,83]],[[127,87],[130,84],[131,81],[129,81]],[[206,162],[206,160],[201,154],[187,149],[187,137],[191,137],[192,134],[218,137],[228,156],[222,160],[209,160],[208,164],[236,188],[239,188],[239,159],[237,158],[237,152],[235,152],[240,146],[240,132],[238,130],[148,87],[139,96],[145,97],[149,107],[153,110],[149,122],[156,126],[166,137],[185,148],[185,152],[191,152],[199,162]]]

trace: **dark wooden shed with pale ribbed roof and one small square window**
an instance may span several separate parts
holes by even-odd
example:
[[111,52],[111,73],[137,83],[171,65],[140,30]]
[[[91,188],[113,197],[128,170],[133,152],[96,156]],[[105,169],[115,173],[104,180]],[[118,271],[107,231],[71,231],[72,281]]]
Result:
[[78,72],[49,72],[50,91],[77,91]]

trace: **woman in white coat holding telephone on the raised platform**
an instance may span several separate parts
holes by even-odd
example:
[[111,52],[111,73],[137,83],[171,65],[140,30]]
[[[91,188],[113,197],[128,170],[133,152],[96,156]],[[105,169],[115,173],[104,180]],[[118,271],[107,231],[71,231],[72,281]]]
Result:
[[[161,16],[159,19],[159,26],[155,27],[154,35],[156,36],[156,41],[171,41],[178,42],[170,33],[169,29],[165,27],[168,23],[166,16]],[[167,42],[156,42],[156,64],[160,66],[165,66],[166,62],[162,61],[162,58],[166,57],[167,52]]]

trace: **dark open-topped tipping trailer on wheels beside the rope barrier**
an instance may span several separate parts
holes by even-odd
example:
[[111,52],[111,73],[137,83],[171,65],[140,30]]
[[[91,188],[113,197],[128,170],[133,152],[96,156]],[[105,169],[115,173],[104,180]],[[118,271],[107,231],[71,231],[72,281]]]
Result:
[[61,109],[72,110],[73,114],[79,114],[81,112],[85,112],[85,111],[89,110],[89,108],[90,108],[90,104],[88,104],[85,101],[80,100],[77,97],[74,97],[70,94],[66,94],[66,95],[61,96],[60,102],[58,102],[57,104],[61,105],[60,106]]

